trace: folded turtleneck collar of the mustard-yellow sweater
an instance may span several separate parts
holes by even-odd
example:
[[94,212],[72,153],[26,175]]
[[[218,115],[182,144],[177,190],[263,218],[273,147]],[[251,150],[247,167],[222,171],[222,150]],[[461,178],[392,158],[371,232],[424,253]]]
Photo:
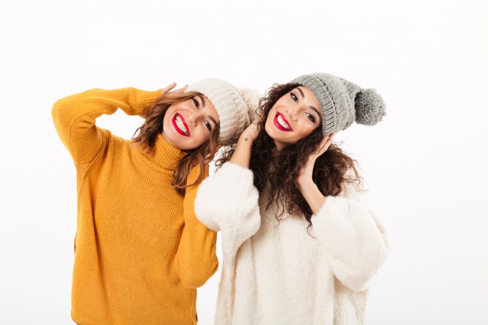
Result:
[[185,155],[182,150],[170,145],[162,134],[157,135],[152,152],[145,153],[140,148],[137,148],[137,151],[155,167],[173,172],[176,170],[180,159]]

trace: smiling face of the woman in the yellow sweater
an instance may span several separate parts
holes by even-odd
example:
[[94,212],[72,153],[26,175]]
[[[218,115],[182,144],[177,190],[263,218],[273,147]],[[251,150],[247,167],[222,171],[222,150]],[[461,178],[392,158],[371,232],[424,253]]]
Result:
[[168,107],[163,118],[163,137],[175,148],[196,149],[208,141],[219,123],[212,102],[197,95]]

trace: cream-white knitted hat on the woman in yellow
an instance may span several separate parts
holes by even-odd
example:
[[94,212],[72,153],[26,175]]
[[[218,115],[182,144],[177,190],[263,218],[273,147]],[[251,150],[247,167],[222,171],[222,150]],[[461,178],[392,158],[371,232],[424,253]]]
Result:
[[185,92],[197,92],[208,97],[220,119],[219,142],[236,139],[250,124],[250,112],[258,107],[261,93],[255,89],[237,89],[231,83],[206,78],[188,86]]

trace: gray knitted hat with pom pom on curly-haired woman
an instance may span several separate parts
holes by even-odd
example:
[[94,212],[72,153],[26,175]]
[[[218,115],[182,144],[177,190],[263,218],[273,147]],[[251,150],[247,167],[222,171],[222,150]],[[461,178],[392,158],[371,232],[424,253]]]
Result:
[[317,97],[322,110],[322,132],[346,130],[352,122],[375,125],[386,115],[385,102],[374,89],[362,89],[343,78],[325,73],[299,76],[301,84]]

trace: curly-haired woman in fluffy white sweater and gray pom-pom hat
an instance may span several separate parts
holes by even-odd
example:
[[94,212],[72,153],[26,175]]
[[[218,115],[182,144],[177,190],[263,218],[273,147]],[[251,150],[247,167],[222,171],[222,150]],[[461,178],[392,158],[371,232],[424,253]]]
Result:
[[376,124],[385,104],[373,89],[313,74],[275,85],[258,111],[195,200],[222,234],[215,323],[364,324],[386,234],[354,159],[332,139],[354,121]]

